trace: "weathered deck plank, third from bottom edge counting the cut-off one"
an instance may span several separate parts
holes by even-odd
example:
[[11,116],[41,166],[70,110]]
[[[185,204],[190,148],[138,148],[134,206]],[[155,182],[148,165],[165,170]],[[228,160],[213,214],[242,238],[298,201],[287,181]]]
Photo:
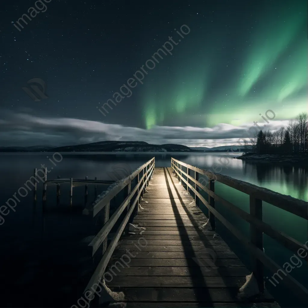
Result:
[[[118,271],[115,270],[118,274]],[[119,286],[124,287],[164,287],[164,288],[193,288],[198,286],[204,288],[240,288],[246,282],[246,277],[216,277],[216,276],[113,276],[109,287]],[[168,292],[166,292],[168,293]]]

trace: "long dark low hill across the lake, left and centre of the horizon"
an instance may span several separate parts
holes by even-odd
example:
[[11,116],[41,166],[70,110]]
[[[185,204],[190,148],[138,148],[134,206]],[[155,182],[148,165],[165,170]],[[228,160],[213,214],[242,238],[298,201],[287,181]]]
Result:
[[100,141],[63,147],[0,147],[0,152],[194,152],[181,144],[148,144],[144,141]]

